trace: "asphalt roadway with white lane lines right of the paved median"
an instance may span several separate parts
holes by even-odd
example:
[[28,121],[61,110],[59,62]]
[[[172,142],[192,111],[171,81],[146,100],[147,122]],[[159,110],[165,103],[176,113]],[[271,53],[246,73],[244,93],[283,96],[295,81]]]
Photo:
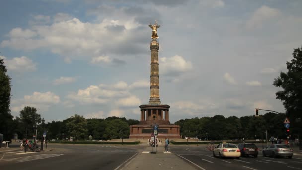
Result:
[[205,146],[171,146],[170,151],[201,170],[302,170],[302,152],[297,151],[292,159],[263,157],[217,158],[205,150]]

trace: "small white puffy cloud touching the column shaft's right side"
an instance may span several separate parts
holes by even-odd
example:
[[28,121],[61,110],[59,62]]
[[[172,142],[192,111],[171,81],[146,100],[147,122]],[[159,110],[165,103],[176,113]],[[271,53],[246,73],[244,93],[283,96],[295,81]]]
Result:
[[179,75],[182,72],[191,70],[192,63],[186,61],[182,56],[162,57],[159,59],[159,71],[167,75]]

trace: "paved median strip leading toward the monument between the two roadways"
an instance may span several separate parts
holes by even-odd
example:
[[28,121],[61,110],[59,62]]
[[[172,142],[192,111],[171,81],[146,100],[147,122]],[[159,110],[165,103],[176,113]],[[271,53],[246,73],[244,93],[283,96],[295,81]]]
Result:
[[[151,152],[152,147],[146,148],[146,151]],[[196,170],[192,164],[164,151],[164,145],[159,145],[156,154],[141,152],[133,159],[128,160],[120,170]]]

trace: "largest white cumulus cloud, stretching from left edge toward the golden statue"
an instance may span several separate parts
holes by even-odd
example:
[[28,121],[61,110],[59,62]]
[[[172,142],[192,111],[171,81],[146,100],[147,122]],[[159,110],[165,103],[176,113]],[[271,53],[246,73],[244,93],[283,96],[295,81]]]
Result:
[[[35,16],[35,19],[45,19],[45,17]],[[137,37],[134,34],[143,31],[139,28],[140,24],[133,19],[134,16],[124,20],[103,19],[97,23],[82,22],[63,13],[58,13],[53,18],[53,23],[50,25],[36,23],[30,29],[12,29],[8,35],[9,39],[3,40],[0,46],[21,50],[44,48],[71,59],[104,53],[127,55],[142,51],[140,39],[133,40]],[[108,39],[110,41],[104,41]],[[129,44],[129,41],[134,43]],[[91,60],[91,62],[109,61],[108,56]]]

